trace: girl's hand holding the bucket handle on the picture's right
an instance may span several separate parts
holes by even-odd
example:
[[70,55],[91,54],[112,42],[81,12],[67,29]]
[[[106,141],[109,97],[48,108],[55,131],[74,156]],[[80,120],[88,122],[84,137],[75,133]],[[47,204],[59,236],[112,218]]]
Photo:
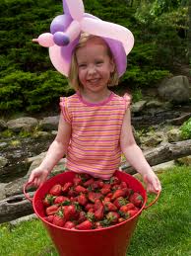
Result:
[[161,185],[160,185],[160,182],[159,182],[159,178],[155,174],[154,171],[145,174],[143,178],[144,178],[144,181],[147,185],[147,191],[149,193],[158,194],[159,191],[161,191]]

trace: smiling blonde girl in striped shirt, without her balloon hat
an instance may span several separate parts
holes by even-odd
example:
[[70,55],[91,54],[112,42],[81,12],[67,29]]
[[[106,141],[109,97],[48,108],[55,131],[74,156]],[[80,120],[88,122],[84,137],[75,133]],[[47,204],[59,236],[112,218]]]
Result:
[[108,89],[118,83],[118,74],[111,49],[102,38],[82,34],[73,52],[69,81],[76,94],[61,98],[58,133],[29,182],[41,185],[65,154],[68,170],[109,179],[119,168],[123,152],[143,176],[148,191],[158,193],[159,179],[132,133],[130,97]]

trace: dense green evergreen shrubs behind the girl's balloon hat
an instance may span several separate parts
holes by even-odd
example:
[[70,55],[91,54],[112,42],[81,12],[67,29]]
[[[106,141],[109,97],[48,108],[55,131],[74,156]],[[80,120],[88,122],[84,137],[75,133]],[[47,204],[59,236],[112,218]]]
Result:
[[[134,34],[135,46],[121,84],[154,86],[173,73],[176,62],[185,61],[188,10],[178,0],[132,3],[84,0],[86,12]],[[0,10],[0,115],[42,111],[61,95],[73,93],[52,66],[47,48],[32,43],[62,14],[62,1],[1,0]]]

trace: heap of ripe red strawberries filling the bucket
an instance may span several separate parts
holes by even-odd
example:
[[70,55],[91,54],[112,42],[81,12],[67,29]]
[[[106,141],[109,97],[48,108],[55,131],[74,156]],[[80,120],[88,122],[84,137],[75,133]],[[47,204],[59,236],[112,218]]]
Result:
[[72,182],[55,184],[43,199],[44,219],[78,230],[123,222],[138,213],[142,205],[142,196],[117,177],[105,181],[88,174],[75,174]]

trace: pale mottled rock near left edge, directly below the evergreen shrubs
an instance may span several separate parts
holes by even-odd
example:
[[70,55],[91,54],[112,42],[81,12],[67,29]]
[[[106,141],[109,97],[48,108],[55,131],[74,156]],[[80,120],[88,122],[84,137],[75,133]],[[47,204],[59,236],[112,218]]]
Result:
[[20,118],[16,120],[10,120],[7,122],[8,128],[13,130],[14,132],[20,132],[21,130],[32,131],[38,124],[38,121],[33,118]]

